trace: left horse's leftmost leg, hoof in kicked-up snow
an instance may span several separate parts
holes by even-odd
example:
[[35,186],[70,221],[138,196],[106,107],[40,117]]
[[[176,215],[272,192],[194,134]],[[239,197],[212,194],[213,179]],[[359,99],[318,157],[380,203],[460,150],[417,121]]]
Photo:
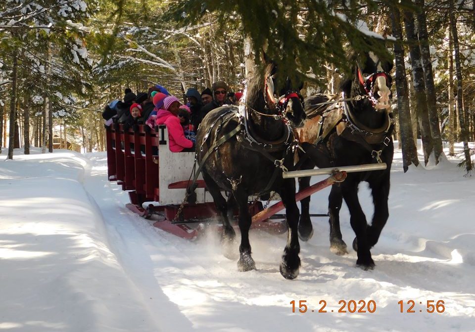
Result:
[[231,247],[231,244],[234,242],[234,239],[236,237],[236,232],[231,226],[231,223],[229,222],[228,218],[228,204],[226,203],[226,200],[223,195],[221,195],[221,190],[219,186],[216,184],[216,182],[214,182],[211,176],[209,176],[209,174],[204,170],[201,172],[201,174],[203,175],[203,180],[206,183],[206,187],[208,188],[209,193],[213,197],[216,209],[220,212],[223,219],[223,234],[221,237],[221,241],[225,246],[223,254],[229,259],[234,259],[233,255],[231,254],[230,248],[226,248]]

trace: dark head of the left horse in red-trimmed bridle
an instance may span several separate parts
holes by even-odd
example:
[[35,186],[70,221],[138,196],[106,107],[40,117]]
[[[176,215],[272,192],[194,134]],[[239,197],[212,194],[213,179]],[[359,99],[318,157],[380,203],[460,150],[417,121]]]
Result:
[[287,75],[279,73],[274,63],[267,65],[264,76],[267,107],[282,116],[291,127],[303,126],[306,114],[299,93],[302,84],[294,84]]

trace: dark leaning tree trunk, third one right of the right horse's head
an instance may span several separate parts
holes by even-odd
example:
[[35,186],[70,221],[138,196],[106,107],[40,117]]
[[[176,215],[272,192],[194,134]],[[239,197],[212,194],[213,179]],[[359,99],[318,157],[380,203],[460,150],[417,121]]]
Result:
[[421,46],[422,64],[424,67],[424,79],[426,83],[427,110],[429,116],[430,134],[434,149],[435,165],[439,163],[440,155],[443,154],[442,135],[437,115],[437,95],[435,93],[434,75],[432,73],[432,61],[430,59],[429,41],[427,35],[427,20],[424,0],[416,0],[416,5],[421,10],[417,14],[419,42]]

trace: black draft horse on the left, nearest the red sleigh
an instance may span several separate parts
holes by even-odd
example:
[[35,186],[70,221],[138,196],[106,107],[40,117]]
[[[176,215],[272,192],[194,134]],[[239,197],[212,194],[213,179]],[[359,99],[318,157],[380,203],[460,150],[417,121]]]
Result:
[[[226,254],[226,246],[229,249],[236,236],[228,206],[238,207],[239,271],[255,269],[249,243],[248,197],[271,191],[281,196],[286,207],[288,238],[280,271],[286,279],[294,279],[299,272],[299,210],[295,203],[295,180],[283,179],[282,171],[293,166],[295,140],[291,128],[302,126],[306,117],[303,98],[291,84],[274,64],[267,65],[264,73],[256,73],[249,81],[239,111],[233,106],[211,111],[201,122],[196,137],[198,165],[203,165],[201,174],[223,218],[222,240],[227,257],[232,255]],[[274,85],[283,88],[275,89]],[[276,100],[278,92],[282,97]],[[230,193],[228,202],[221,190]]]

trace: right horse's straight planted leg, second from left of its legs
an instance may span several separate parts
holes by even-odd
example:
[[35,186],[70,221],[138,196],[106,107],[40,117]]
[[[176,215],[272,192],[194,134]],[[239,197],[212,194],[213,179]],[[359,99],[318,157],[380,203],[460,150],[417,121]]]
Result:
[[332,185],[332,190],[328,196],[328,214],[330,214],[330,251],[337,255],[348,253],[346,243],[343,241],[340,230],[340,208],[343,203],[341,188],[339,184]]

